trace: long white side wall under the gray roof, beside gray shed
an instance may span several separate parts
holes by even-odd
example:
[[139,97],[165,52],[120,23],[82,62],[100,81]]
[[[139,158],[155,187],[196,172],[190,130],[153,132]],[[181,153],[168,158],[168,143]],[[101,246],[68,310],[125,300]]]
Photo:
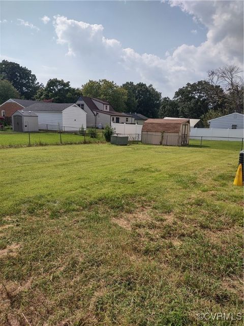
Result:
[[59,130],[63,127],[62,111],[35,111],[38,115],[39,129]]

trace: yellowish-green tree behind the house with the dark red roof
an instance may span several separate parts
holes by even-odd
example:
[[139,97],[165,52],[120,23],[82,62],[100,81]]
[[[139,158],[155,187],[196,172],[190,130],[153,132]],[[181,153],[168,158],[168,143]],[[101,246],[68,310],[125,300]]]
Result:
[[82,94],[108,101],[115,111],[126,110],[127,91],[110,80],[100,79],[98,82],[89,80],[88,83],[82,85]]

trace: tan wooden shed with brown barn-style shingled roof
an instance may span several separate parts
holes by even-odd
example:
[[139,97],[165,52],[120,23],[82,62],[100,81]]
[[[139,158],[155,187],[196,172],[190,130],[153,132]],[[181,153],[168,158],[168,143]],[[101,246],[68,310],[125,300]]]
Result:
[[189,144],[189,119],[148,119],[142,127],[144,144],[184,146]]

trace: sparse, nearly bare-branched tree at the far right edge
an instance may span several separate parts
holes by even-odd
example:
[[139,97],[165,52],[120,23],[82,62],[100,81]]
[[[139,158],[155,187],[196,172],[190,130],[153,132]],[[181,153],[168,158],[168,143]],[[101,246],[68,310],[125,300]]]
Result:
[[218,94],[226,101],[228,113],[243,113],[242,70],[235,65],[208,71],[208,82],[213,86],[224,87],[225,92]]

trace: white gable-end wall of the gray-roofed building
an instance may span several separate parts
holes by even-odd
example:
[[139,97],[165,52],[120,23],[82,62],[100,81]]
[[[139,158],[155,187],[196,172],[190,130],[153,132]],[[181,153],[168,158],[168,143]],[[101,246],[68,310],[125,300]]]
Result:
[[86,112],[82,108],[72,105],[63,110],[62,113],[65,131],[79,130],[82,125],[86,130]]

